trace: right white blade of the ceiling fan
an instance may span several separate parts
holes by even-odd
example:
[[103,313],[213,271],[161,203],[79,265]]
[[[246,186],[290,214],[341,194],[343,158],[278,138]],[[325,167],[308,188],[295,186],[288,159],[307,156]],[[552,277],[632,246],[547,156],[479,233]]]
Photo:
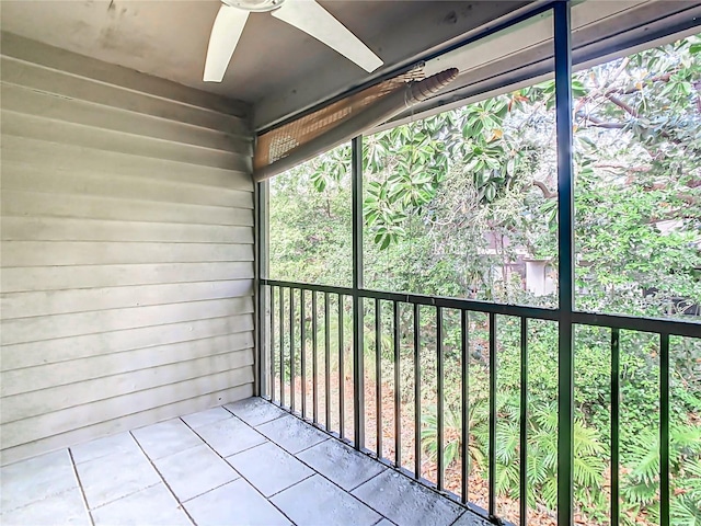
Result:
[[314,0],[287,0],[272,14],[326,44],[368,72],[382,65],[377,55]]

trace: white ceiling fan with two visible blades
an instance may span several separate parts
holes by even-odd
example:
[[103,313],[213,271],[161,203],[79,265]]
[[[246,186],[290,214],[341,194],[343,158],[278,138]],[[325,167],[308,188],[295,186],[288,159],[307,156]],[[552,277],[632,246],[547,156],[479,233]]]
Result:
[[205,82],[221,82],[250,13],[273,16],[313,36],[366,71],[382,60],[315,0],[222,0],[211,27],[205,61]]

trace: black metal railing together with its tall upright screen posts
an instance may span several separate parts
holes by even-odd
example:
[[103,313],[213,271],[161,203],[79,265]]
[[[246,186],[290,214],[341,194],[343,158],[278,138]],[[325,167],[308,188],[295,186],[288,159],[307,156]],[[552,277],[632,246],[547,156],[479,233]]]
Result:
[[[558,524],[571,526],[574,524],[573,499],[573,464],[574,464],[574,338],[577,327],[599,327],[610,331],[610,389],[611,389],[611,498],[610,522],[619,524],[619,490],[620,490],[620,392],[621,392],[621,362],[620,362],[620,331],[631,330],[657,334],[659,338],[659,444],[660,444],[660,505],[659,524],[669,526],[670,500],[669,500],[669,338],[670,335],[701,338],[701,325],[698,323],[681,322],[671,319],[634,318],[627,316],[599,315],[576,311],[574,309],[574,192],[572,169],[572,46],[571,46],[571,2],[554,1],[543,4],[530,15],[537,15],[552,9],[554,23],[554,72],[555,72],[555,107],[558,132],[558,252],[559,252],[559,308],[547,309],[537,307],[524,307],[513,305],[490,304],[457,298],[429,297],[413,294],[383,293],[369,290],[363,286],[363,167],[361,167],[361,138],[357,137],[352,145],[352,172],[353,172],[353,285],[349,288],[323,285],[309,285],[292,282],[267,279],[267,192],[266,184],[256,186],[256,261],[257,261],[257,392],[269,398],[290,412],[308,420],[311,424],[324,428],[353,446],[367,454],[376,456],[394,468],[414,477],[422,483],[437,491],[448,494],[450,498],[470,505],[468,466],[463,461],[461,470],[460,495],[446,491],[444,409],[445,409],[445,355],[443,329],[445,312],[451,309],[459,312],[460,319],[460,358],[461,358],[461,398],[462,398],[462,428],[461,428],[461,456],[468,458],[470,428],[468,422],[470,386],[469,386],[469,320],[474,313],[486,316],[489,319],[489,451],[487,451],[487,510],[475,508],[479,513],[497,523],[497,494],[496,494],[496,393],[497,393],[497,318],[499,316],[516,317],[520,323],[520,413],[519,413],[519,458],[520,466],[526,466],[528,458],[528,375],[529,375],[529,342],[528,331],[531,320],[555,322],[558,325]],[[526,16],[527,18],[527,16]],[[489,34],[489,33],[487,33]],[[486,34],[485,34],[486,35]],[[309,298],[308,298],[309,297]],[[367,447],[365,441],[365,419],[368,410],[365,403],[365,348],[364,312],[366,302],[372,304],[376,311],[375,340],[376,340],[376,370],[382,376],[381,339],[392,339],[392,366],[394,382],[394,430],[393,446],[394,458],[383,458],[382,437],[382,382],[376,385],[376,443]],[[322,305],[323,304],[323,305]],[[334,305],[335,304],[335,305]],[[383,322],[382,316],[378,316],[383,305],[391,306],[391,316],[388,322]],[[335,311],[334,311],[335,307]],[[422,450],[421,450],[421,415],[424,408],[421,399],[422,366],[420,358],[421,347],[421,318],[426,316],[426,309],[433,309],[430,316],[435,317],[435,352],[437,364],[437,477],[436,482],[423,478]],[[308,316],[309,310],[311,316]],[[403,334],[400,334],[400,311],[413,310],[412,339],[414,347],[414,467],[406,469],[402,461],[402,433],[400,419],[400,390],[397,386],[401,382],[401,344]],[[323,312],[320,313],[320,312]],[[349,365],[353,367],[353,408],[352,413],[346,413],[346,393],[344,371],[346,369],[344,351],[344,317],[353,318],[352,356]],[[311,327],[308,327],[308,319]],[[336,328],[332,328],[335,320]],[[540,321],[539,321],[540,322]],[[333,329],[333,330],[332,330]],[[307,331],[311,330],[311,339]],[[333,340],[336,340],[335,348],[332,348]],[[319,354],[323,340],[323,359]],[[311,343],[311,351],[308,348]],[[311,353],[311,371],[308,367],[308,357]],[[299,370],[297,366],[299,355]],[[337,414],[338,426],[334,428],[332,411],[332,359],[338,373]],[[277,365],[276,365],[277,364]],[[277,369],[276,369],[277,367]],[[323,386],[319,384],[322,376]],[[279,377],[276,379],[276,370]],[[308,374],[311,373],[311,382]],[[300,405],[296,396],[299,380]],[[309,408],[308,389],[311,389],[311,410]],[[323,401],[323,411],[321,402]],[[311,415],[310,415],[311,412]],[[345,426],[346,414],[353,415],[352,433]],[[352,435],[352,436],[350,436]],[[520,524],[527,521],[527,489],[528,478],[526,469],[519,474],[520,495]],[[472,506],[474,508],[474,506]]]

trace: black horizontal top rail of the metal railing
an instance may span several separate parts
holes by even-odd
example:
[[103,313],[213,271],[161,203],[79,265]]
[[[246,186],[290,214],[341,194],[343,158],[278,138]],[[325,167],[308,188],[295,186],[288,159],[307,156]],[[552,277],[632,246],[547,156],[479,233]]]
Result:
[[[346,296],[354,296],[355,294],[357,294],[363,298],[399,301],[410,305],[426,305],[432,307],[443,307],[446,309],[469,310],[475,312],[494,312],[496,315],[516,316],[535,320],[558,321],[561,315],[559,309],[528,307],[522,305],[493,304],[474,299],[446,298],[441,296],[426,296],[421,294],[406,293],[388,293],[365,288],[356,290],[350,287],[287,282],[280,279],[261,279],[261,284],[275,287],[317,290],[320,293],[342,294]],[[607,327],[657,334],[701,338],[701,323],[692,321],[647,317],[636,318],[633,316],[606,315],[583,311],[574,311],[572,313],[572,321],[579,325]]]

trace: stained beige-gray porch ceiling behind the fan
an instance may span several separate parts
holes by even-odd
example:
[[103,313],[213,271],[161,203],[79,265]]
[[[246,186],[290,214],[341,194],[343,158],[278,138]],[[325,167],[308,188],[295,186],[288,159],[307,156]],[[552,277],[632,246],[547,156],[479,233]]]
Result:
[[[528,1],[320,0],[384,61],[381,75]],[[266,13],[249,19],[221,83],[202,81],[219,0],[2,0],[1,28],[255,106],[256,127],[369,79]]]

